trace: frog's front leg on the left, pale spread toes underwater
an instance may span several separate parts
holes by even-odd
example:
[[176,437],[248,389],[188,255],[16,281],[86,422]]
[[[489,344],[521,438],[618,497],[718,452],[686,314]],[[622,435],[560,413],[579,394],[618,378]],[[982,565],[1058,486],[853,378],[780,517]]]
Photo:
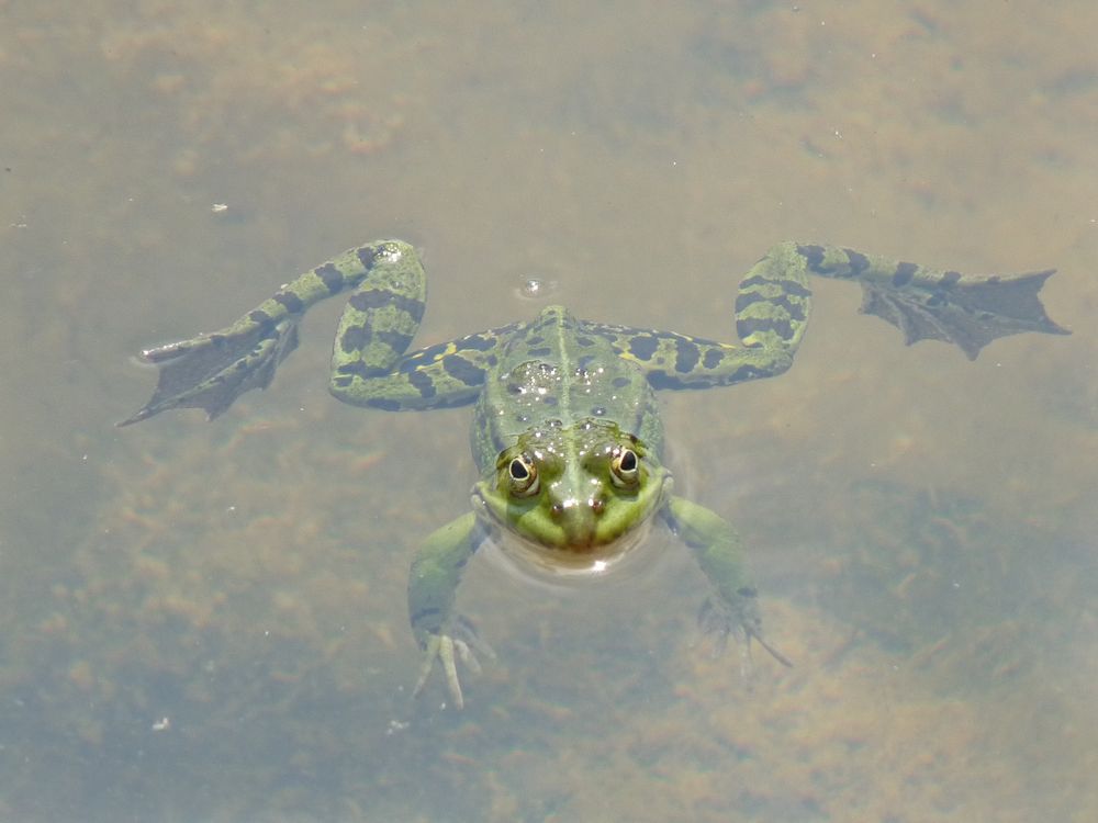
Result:
[[430,534],[412,562],[408,618],[412,633],[424,653],[413,697],[423,691],[437,661],[453,704],[461,709],[464,698],[455,654],[474,673],[480,670],[474,651],[492,654],[472,628],[453,613],[461,573],[484,538],[475,514],[469,512]]

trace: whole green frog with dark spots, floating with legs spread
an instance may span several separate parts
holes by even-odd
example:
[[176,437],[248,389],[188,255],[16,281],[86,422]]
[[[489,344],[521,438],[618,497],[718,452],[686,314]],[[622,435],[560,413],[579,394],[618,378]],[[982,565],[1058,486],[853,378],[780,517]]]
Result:
[[749,658],[755,642],[792,666],[763,631],[738,531],[675,493],[657,393],[787,371],[808,326],[813,275],[856,281],[861,311],[896,326],[906,343],[940,340],[974,360],[999,337],[1069,334],[1038,295],[1053,272],[973,277],[785,241],[740,279],[732,342],[579,319],[553,305],[533,319],[410,351],[426,308],[426,273],[414,246],[382,239],[304,272],[221,330],[142,352],[159,367],[158,383],[119,425],[176,408],[219,417],[240,394],[270,384],[311,306],[349,292],[332,354],[336,398],[386,412],[474,407],[470,441],[480,476],[470,510],[423,540],[408,574],[408,623],[422,654],[413,695],[440,670],[461,709],[458,664],[478,672],[478,654],[491,653],[455,608],[462,573],[488,541],[519,545],[550,568],[596,574],[632,552],[654,522],[688,546],[704,573],[698,621],[716,653],[735,636],[741,655]]

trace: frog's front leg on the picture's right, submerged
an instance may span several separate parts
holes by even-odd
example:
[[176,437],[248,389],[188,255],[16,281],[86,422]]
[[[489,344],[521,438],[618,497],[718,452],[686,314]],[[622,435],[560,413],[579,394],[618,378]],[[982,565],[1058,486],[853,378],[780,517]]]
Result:
[[703,631],[717,635],[718,652],[728,634],[739,630],[749,653],[754,639],[778,663],[792,666],[763,636],[758,591],[736,530],[704,506],[676,496],[668,501],[663,517],[671,530],[694,550],[698,565],[713,584],[714,596],[703,607],[699,622]]

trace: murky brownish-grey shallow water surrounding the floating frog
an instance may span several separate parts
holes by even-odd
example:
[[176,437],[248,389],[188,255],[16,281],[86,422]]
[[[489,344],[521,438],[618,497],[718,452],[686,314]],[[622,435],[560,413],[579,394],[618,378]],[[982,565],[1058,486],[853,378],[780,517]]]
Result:
[[[0,2],[0,818],[1098,815],[1093,3],[281,5]],[[569,596],[474,563],[500,659],[456,713],[410,698],[404,594],[467,412],[332,399],[332,306],[214,424],[113,428],[133,353],[384,236],[424,342],[529,277],[727,338],[787,238],[1055,266],[1075,334],[971,363],[819,285],[792,372],[665,402],[796,667],[710,659],[656,534]]]

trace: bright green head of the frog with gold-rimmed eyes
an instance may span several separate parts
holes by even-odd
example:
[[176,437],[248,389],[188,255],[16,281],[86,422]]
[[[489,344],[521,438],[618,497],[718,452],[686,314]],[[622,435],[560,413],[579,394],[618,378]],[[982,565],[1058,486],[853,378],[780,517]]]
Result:
[[498,527],[554,555],[616,554],[660,509],[670,473],[617,424],[554,422],[501,452],[474,501]]

